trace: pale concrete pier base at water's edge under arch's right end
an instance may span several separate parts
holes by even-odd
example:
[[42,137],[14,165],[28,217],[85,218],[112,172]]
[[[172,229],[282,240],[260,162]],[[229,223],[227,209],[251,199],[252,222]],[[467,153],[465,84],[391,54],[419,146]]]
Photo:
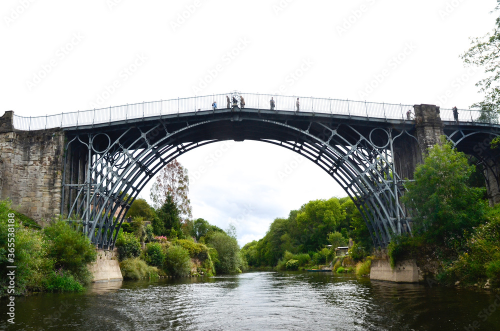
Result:
[[418,282],[418,268],[414,259],[396,263],[390,267],[388,259],[371,260],[370,279],[394,282]]

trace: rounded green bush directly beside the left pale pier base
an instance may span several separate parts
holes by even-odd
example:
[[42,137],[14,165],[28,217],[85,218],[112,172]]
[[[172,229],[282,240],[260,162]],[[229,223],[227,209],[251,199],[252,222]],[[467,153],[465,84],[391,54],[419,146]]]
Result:
[[45,227],[43,233],[47,240],[47,254],[54,261],[54,267],[70,271],[81,283],[90,282],[87,264],[95,261],[97,256],[90,239],[61,219]]

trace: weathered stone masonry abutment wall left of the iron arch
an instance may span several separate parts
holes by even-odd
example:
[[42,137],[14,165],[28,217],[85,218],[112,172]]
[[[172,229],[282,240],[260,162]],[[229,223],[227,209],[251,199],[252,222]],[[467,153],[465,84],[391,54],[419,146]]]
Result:
[[0,117],[0,195],[40,224],[60,212],[64,132],[18,131]]

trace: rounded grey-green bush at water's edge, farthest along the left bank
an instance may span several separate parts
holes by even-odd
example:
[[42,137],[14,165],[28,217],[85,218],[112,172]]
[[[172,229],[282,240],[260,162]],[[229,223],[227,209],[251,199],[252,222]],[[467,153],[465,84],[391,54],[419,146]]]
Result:
[[241,272],[241,268],[245,263],[235,238],[228,236],[224,232],[215,232],[210,237],[207,245],[215,248],[217,251],[217,261],[212,256],[217,273]]

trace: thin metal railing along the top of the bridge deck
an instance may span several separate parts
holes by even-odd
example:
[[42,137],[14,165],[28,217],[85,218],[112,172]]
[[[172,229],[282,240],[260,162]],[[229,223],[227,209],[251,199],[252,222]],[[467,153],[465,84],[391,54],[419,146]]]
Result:
[[[320,98],[311,96],[291,96],[278,94],[236,93],[238,106],[242,96],[246,108],[270,109],[270,99],[274,100],[274,110],[297,111],[298,98],[301,112],[341,114],[347,116],[362,116],[369,118],[406,119],[406,111],[413,112],[409,104],[394,104],[384,102],[353,101],[344,99]],[[131,103],[118,106],[109,106],[99,109],[63,112],[55,115],[25,117],[14,114],[13,124],[20,130],[39,130],[53,127],[73,127],[82,125],[111,123],[117,120],[145,118],[174,113],[196,112],[212,110],[215,101],[217,109],[228,108],[227,98],[231,93],[176,98],[169,100]],[[229,107],[232,100],[229,101]],[[440,109],[443,120],[454,120],[451,109]],[[474,109],[458,109],[458,120],[466,122],[498,123],[496,112],[487,112]]]

